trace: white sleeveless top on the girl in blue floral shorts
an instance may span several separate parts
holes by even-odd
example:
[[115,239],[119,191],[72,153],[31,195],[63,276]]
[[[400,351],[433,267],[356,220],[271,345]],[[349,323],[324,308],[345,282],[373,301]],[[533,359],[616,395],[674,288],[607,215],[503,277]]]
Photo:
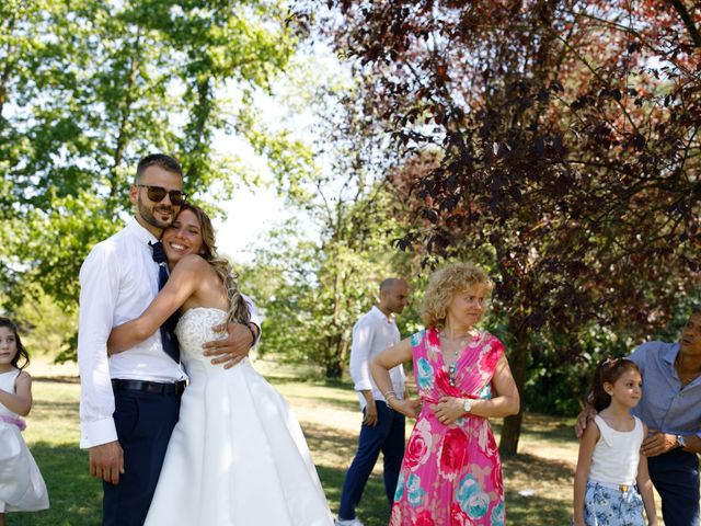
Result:
[[640,419],[633,418],[633,431],[616,431],[598,414],[594,418],[601,436],[591,456],[589,480],[617,485],[635,483],[644,430]]

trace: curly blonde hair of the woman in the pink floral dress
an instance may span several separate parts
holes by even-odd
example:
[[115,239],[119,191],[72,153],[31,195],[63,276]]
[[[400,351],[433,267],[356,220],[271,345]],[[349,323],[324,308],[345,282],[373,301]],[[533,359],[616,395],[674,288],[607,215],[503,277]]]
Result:
[[424,327],[443,328],[446,323],[448,305],[455,294],[462,293],[474,285],[486,287],[489,294],[494,289],[494,282],[490,275],[474,263],[453,263],[434,272],[421,306]]

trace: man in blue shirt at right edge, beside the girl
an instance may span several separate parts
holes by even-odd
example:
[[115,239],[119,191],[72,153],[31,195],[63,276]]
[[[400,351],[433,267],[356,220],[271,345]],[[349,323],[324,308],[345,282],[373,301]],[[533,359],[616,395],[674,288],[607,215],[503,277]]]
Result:
[[[643,398],[632,411],[650,430],[642,453],[662,499],[666,526],[699,526],[701,453],[701,306],[692,309],[678,342],[646,342],[630,356],[643,376]],[[577,418],[582,436],[596,411]]]

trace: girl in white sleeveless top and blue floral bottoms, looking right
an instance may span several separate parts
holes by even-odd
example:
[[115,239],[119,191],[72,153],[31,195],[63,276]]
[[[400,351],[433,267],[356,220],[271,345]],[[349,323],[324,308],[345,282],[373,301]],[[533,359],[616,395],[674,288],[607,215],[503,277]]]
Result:
[[[642,378],[630,359],[605,359],[591,382],[594,425],[587,425],[574,478],[574,526],[657,526],[647,458],[640,446],[647,427],[630,410]],[[642,495],[642,499],[641,499]]]

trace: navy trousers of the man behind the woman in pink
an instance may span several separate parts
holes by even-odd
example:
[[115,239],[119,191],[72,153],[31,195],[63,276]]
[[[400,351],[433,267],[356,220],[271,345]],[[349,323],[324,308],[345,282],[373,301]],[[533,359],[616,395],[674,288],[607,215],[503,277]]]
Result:
[[394,501],[394,491],[399,471],[404,457],[404,415],[390,409],[387,403],[375,402],[377,424],[363,425],[358,438],[358,451],[348,468],[341,493],[338,518],[355,518],[355,508],[360,502],[365,484],[375,468],[377,457],[382,451],[384,464],[384,491],[390,507]]

